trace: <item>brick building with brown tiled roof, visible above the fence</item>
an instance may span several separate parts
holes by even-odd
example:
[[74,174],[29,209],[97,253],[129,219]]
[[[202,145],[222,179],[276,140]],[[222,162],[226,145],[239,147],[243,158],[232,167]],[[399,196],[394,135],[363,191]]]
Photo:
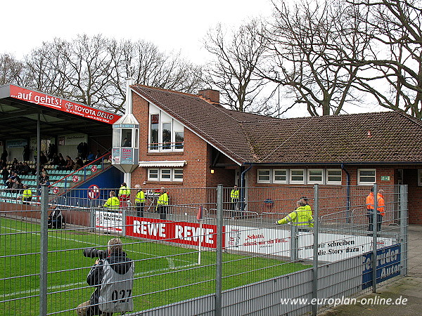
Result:
[[[409,223],[422,224],[422,122],[402,112],[275,119],[227,110],[219,93],[133,85],[139,167],[132,185],[409,186]],[[362,190],[360,189],[362,187]],[[356,193],[356,192],[355,192]],[[296,193],[295,193],[296,194]]]

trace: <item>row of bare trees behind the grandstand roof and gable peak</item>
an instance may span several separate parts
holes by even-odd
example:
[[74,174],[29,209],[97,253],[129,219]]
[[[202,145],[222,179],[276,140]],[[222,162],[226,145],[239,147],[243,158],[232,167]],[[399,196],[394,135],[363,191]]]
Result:
[[179,54],[166,55],[145,41],[118,42],[101,35],[46,42],[27,56],[25,70],[29,88],[116,113],[124,111],[129,75],[138,84],[188,93],[202,83],[201,68]]

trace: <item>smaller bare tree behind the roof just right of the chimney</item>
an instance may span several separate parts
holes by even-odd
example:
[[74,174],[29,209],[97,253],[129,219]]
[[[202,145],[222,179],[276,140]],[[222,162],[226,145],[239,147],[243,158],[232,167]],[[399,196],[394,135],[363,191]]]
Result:
[[[207,33],[204,44],[213,60],[206,69],[206,81],[222,94],[220,103],[241,112],[272,114],[262,90],[266,80],[255,74],[267,46],[262,25],[252,20],[229,35],[217,25]],[[274,91],[270,91],[269,96]]]

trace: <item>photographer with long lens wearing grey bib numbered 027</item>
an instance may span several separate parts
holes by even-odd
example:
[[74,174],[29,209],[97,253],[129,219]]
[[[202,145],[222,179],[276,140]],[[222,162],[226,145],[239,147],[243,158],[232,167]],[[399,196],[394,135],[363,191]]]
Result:
[[107,253],[93,248],[84,250],[86,257],[99,257],[87,276],[87,283],[96,289],[89,301],[77,306],[77,315],[111,316],[113,312],[133,310],[134,262],[127,258],[119,238],[110,239],[107,249]]

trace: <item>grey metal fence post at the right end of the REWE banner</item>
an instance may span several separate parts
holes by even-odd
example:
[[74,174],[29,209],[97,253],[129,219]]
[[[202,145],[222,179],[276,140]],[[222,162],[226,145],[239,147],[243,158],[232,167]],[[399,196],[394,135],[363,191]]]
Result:
[[222,315],[223,185],[217,185],[217,258],[215,263],[215,315]]

